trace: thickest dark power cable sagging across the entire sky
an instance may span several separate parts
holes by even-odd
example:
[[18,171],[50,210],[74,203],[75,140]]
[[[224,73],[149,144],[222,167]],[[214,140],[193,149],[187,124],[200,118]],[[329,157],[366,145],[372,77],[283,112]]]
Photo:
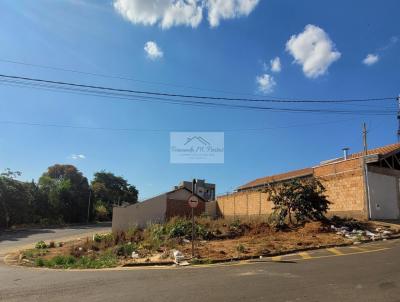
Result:
[[386,101],[386,100],[396,100],[397,97],[381,97],[381,98],[365,98],[365,99],[341,99],[341,100],[284,100],[284,99],[251,99],[251,98],[228,98],[228,97],[217,97],[217,96],[204,96],[204,95],[188,95],[188,94],[176,94],[176,93],[166,93],[166,92],[154,92],[154,91],[144,91],[144,90],[132,90],[132,89],[122,89],[113,88],[105,86],[96,85],[84,85],[78,83],[70,83],[63,81],[53,81],[44,80],[38,78],[22,77],[22,76],[12,76],[0,74],[1,78],[4,79],[14,79],[14,80],[24,80],[36,83],[47,83],[70,87],[81,87],[96,89],[102,91],[113,91],[113,92],[125,92],[134,93],[139,95],[153,95],[153,96],[165,96],[165,97],[178,97],[178,98],[190,98],[190,99],[206,99],[206,100],[218,100],[218,101],[243,101],[243,102],[272,102],[272,103],[351,103],[351,102],[371,102],[371,101]]

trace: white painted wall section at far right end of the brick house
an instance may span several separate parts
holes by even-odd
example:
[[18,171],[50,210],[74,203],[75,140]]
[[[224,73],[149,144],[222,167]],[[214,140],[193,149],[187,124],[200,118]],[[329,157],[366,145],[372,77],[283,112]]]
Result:
[[398,219],[399,180],[395,176],[368,172],[372,219]]

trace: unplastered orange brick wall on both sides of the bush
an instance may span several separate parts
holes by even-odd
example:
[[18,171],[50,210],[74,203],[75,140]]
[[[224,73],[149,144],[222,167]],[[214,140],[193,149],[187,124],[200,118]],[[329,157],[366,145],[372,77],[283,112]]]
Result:
[[[314,176],[325,186],[331,202],[328,214],[367,218],[360,159],[318,166]],[[217,197],[218,214],[226,217],[268,215],[272,207],[268,194],[255,190]]]

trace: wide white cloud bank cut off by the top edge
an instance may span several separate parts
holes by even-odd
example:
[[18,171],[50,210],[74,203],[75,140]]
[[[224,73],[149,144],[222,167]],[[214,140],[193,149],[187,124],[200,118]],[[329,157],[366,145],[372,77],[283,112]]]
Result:
[[260,0],[114,0],[114,8],[134,24],[155,25],[163,29],[185,25],[197,27],[208,9],[212,27],[221,19],[249,15]]

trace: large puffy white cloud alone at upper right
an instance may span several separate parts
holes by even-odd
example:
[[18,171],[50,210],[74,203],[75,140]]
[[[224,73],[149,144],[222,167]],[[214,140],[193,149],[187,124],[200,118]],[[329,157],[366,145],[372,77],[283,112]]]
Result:
[[309,24],[304,31],[286,42],[286,50],[294,62],[302,65],[309,78],[324,75],[329,66],[341,56],[328,34],[320,27]]

